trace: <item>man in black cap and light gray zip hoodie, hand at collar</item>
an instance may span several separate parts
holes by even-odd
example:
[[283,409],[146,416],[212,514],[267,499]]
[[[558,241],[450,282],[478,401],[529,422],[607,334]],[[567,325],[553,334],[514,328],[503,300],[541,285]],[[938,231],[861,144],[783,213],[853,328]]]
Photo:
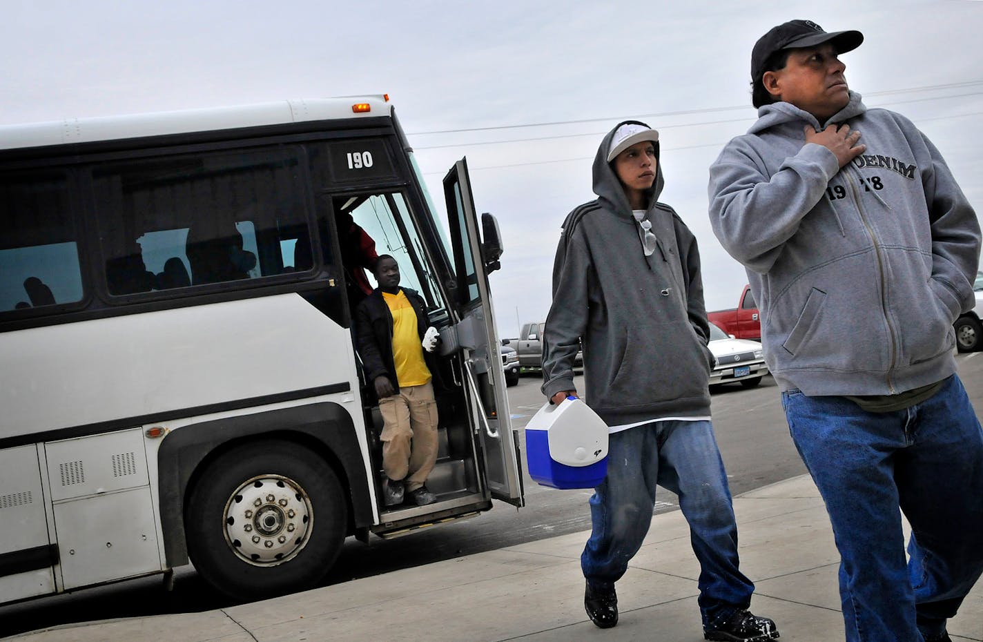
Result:
[[980,229],[939,150],[846,87],[862,40],[800,20],[758,40],[759,119],[710,168],[710,218],[830,513],[846,639],[949,640],[983,571],[983,431],[953,354]]

